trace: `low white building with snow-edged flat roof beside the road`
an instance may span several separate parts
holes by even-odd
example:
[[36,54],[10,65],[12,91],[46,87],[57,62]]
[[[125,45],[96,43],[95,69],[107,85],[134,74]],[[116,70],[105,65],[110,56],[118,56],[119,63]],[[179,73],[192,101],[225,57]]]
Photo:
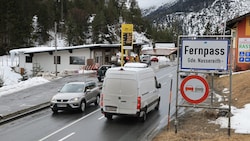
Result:
[[[93,44],[72,47],[33,47],[10,51],[11,58],[18,57],[21,74],[37,72],[62,72],[84,69],[88,65],[106,64],[112,52],[119,51],[120,44]],[[108,58],[108,59],[107,59]],[[107,62],[105,62],[105,59]],[[13,59],[12,59],[13,60]],[[56,63],[57,61],[57,63]]]

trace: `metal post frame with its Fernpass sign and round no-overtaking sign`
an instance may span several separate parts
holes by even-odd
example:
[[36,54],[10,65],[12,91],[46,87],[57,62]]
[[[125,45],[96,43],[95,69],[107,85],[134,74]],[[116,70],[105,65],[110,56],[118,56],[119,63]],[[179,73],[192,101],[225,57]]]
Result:
[[[176,81],[176,111],[175,111],[175,133],[177,133],[178,110],[182,107],[206,108],[227,110],[228,135],[231,131],[231,95],[232,95],[232,36],[179,36],[178,37],[178,65]],[[244,51],[242,51],[244,52]],[[244,54],[244,53],[242,53]],[[240,59],[239,59],[240,60]],[[242,59],[243,60],[243,59]],[[246,59],[245,59],[246,60]],[[180,72],[188,73],[189,76],[179,81]],[[192,73],[192,75],[191,75]],[[209,87],[207,80],[198,74],[212,76],[212,84]],[[209,95],[213,97],[214,74],[229,74],[229,101],[228,108],[214,107],[213,102],[203,103]],[[179,85],[179,83],[181,83]],[[178,88],[180,86],[180,88]],[[180,101],[178,96],[186,100]],[[213,99],[211,99],[213,101]]]

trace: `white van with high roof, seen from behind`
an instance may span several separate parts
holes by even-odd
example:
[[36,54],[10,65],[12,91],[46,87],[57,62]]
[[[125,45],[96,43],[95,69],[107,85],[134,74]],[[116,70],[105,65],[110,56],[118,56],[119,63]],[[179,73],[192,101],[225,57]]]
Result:
[[107,119],[127,115],[146,120],[146,114],[160,105],[159,88],[152,68],[145,63],[126,63],[110,68],[102,86],[101,111]]

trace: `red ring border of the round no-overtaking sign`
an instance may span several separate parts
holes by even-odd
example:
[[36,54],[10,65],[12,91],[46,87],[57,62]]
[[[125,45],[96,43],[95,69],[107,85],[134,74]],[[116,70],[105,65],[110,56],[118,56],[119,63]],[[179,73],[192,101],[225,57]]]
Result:
[[[200,80],[205,85],[205,93],[204,93],[204,95],[200,99],[193,100],[193,99],[190,99],[189,97],[187,97],[187,95],[185,94],[185,92],[184,92],[184,85],[190,79],[198,79],[198,80]],[[209,94],[209,85],[208,85],[207,81],[203,77],[198,76],[198,75],[190,75],[190,76],[188,76],[188,77],[186,77],[186,78],[183,79],[183,81],[181,83],[181,86],[180,86],[180,91],[181,91],[182,97],[186,101],[188,101],[189,103],[198,104],[198,103],[201,103],[201,102],[203,102],[204,100],[207,99],[208,94]]]

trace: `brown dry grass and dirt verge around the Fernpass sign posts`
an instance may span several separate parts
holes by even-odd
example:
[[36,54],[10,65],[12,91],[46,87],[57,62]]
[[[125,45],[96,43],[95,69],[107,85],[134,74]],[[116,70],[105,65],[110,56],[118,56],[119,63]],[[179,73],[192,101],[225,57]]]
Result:
[[[237,73],[232,76],[232,106],[244,107],[250,103],[250,71]],[[208,77],[208,81],[210,78]],[[229,88],[229,77],[215,77],[215,92],[224,98],[224,101],[215,104],[227,104],[228,94],[222,91]],[[161,132],[153,138],[153,141],[249,141],[250,134],[237,134],[231,129],[220,128],[220,125],[209,123],[219,117],[218,110],[201,109],[197,111],[187,108],[185,114],[178,118],[178,130],[175,133],[174,119],[170,128],[164,127]]]

